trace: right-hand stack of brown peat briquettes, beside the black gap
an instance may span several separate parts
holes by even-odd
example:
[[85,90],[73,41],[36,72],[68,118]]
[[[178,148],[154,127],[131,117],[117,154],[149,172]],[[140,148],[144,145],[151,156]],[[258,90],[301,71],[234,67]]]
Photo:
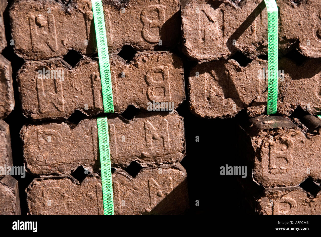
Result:
[[247,111],[250,119],[236,135],[250,180],[239,180],[257,213],[321,214],[321,120],[315,116],[321,110],[321,11],[317,0],[276,3],[284,56],[279,116],[264,115],[267,10],[261,0],[195,0],[182,8],[183,51],[200,61],[189,75],[189,106],[203,118]]

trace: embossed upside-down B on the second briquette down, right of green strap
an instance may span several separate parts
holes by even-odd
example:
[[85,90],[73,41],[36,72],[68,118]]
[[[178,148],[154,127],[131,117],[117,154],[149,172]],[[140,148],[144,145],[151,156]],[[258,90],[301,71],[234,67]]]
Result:
[[[155,80],[160,75],[160,80]],[[147,96],[150,101],[166,102],[171,100],[169,70],[165,66],[156,66],[146,72]]]

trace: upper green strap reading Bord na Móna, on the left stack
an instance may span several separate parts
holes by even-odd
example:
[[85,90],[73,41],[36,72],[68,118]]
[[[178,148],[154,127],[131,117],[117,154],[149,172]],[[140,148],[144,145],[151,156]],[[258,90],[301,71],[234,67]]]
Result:
[[101,0],[91,0],[94,17],[98,59],[100,68],[100,80],[102,89],[102,101],[105,113],[114,112],[113,90],[111,88],[110,65],[108,56],[108,44],[106,37],[106,27],[104,11]]

